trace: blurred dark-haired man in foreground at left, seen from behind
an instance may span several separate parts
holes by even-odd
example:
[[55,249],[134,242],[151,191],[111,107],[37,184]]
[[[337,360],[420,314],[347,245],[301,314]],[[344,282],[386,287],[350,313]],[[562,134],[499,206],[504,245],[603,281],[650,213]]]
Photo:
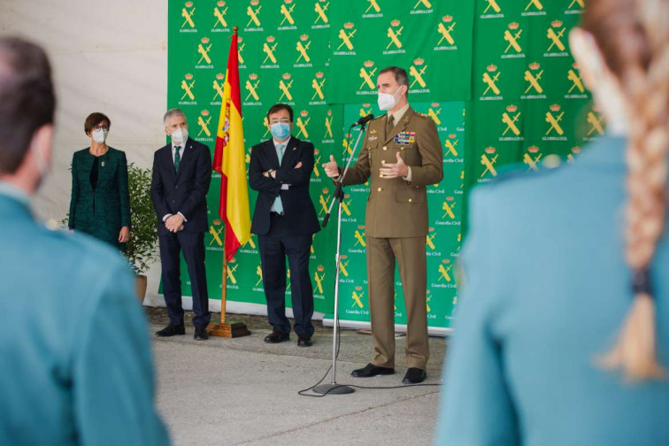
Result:
[[0,37],[0,444],[168,444],[127,261],[30,210],[55,102],[42,49]]

